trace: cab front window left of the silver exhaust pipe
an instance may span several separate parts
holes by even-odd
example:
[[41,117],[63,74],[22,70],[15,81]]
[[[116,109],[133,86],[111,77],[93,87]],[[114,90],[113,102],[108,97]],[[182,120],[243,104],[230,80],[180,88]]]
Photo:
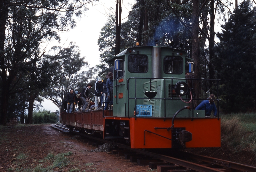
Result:
[[131,73],[148,72],[148,56],[141,54],[130,54],[128,56],[128,71]]

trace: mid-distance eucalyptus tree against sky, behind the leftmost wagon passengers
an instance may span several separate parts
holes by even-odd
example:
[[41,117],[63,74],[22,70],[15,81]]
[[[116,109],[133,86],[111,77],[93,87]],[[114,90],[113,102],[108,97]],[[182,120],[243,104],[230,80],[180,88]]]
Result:
[[[60,108],[60,99],[63,102],[71,89],[82,91],[93,75],[93,68],[89,69],[78,47],[73,44],[64,49],[52,47],[52,54],[54,53],[55,55],[46,55],[49,59],[54,59],[52,65],[55,67],[52,69],[51,84],[44,89],[42,96]],[[80,72],[82,67],[89,70]]]

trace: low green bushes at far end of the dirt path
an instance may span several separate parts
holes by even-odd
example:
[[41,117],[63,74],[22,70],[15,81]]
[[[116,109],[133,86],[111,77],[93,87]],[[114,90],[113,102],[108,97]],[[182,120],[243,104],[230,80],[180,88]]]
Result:
[[33,112],[33,123],[34,124],[44,124],[44,123],[56,123],[58,117],[54,112],[50,111],[34,111]]

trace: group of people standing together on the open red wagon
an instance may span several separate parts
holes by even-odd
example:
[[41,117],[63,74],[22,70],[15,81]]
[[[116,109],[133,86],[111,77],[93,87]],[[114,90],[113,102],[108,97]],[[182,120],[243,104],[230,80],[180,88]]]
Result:
[[82,92],[74,92],[74,90],[71,89],[67,94],[66,100],[62,102],[64,111],[71,113],[72,111],[87,112],[89,110],[100,110],[103,108],[103,102],[105,103],[104,110],[111,108],[113,104],[113,73],[108,72],[106,78],[107,81],[103,82],[100,76],[97,77],[94,84],[94,102],[91,101],[89,97],[89,90],[92,88],[91,83],[88,83]]

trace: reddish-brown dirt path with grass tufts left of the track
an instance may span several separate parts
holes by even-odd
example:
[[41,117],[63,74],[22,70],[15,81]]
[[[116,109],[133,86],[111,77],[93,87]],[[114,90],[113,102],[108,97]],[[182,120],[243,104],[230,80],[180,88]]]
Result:
[[151,171],[89,146],[51,125],[0,126],[0,171]]

